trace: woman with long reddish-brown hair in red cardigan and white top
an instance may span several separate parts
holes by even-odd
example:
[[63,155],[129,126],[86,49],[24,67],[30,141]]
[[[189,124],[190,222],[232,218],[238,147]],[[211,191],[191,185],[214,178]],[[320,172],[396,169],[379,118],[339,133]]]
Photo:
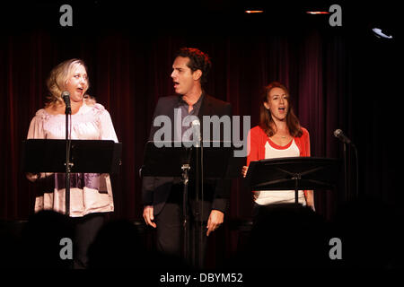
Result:
[[[290,105],[289,91],[277,82],[269,83],[261,100],[259,126],[250,129],[246,176],[250,161],[263,159],[310,156],[309,132],[300,126]],[[259,205],[294,203],[294,190],[254,191],[254,202]],[[314,210],[312,190],[299,191],[299,203]]]

